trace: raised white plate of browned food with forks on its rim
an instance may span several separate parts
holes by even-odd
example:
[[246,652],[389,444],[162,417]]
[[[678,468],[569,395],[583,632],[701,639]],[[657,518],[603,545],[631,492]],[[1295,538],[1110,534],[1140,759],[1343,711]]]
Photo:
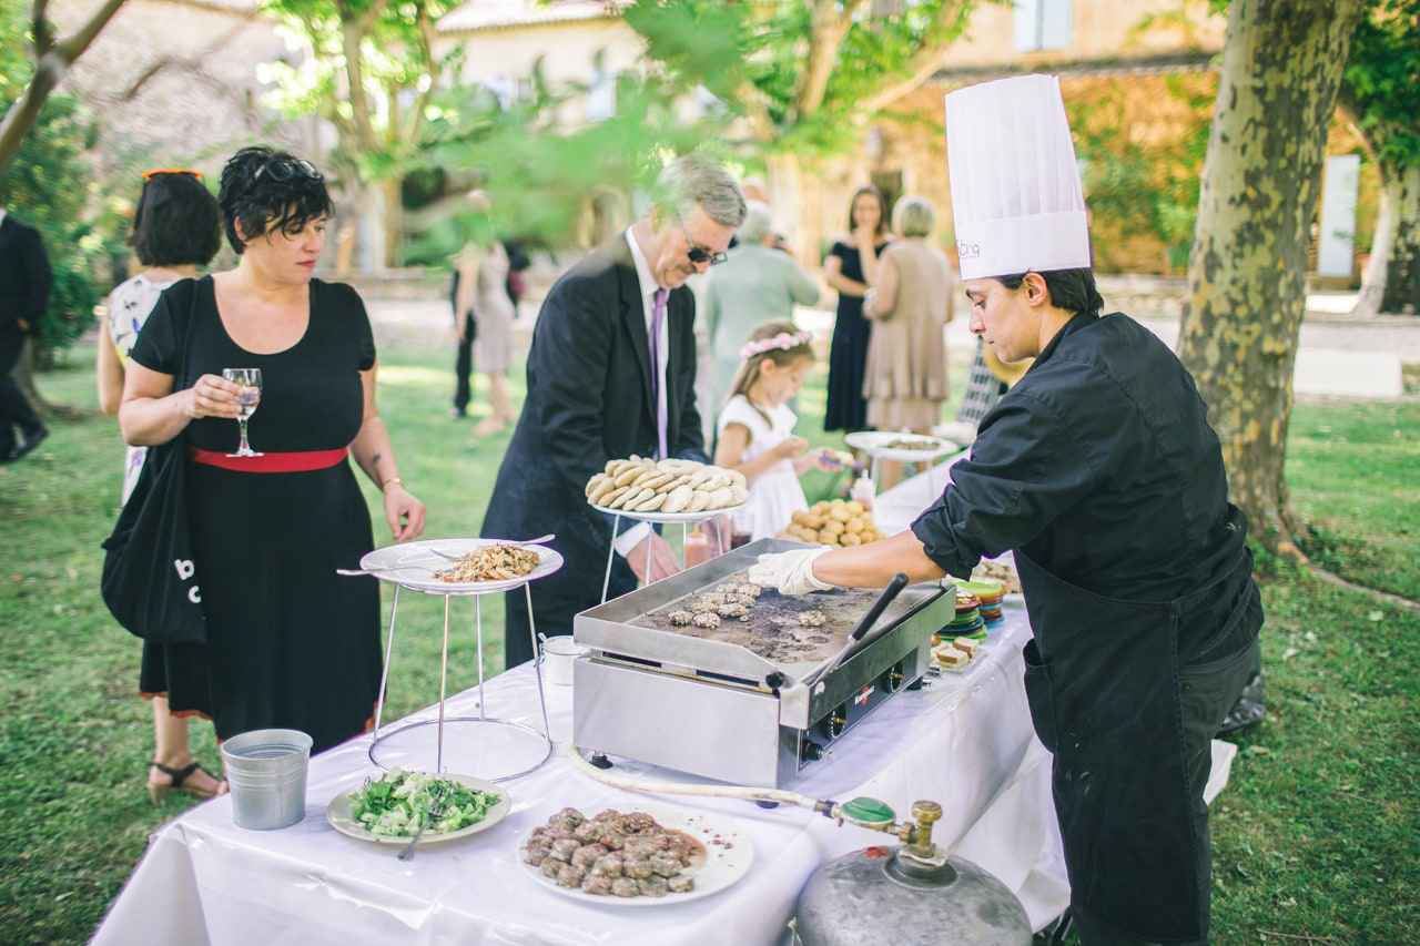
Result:
[[551,575],[562,567],[562,555],[507,538],[423,538],[376,548],[359,567],[412,591],[483,594]]

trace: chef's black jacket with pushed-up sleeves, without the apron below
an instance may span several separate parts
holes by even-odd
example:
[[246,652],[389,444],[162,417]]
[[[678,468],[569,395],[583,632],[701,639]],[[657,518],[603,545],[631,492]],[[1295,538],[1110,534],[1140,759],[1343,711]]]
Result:
[[[1127,315],[1076,315],[987,413],[912,530],[951,575],[1020,550],[1085,591],[1170,601],[1242,550],[1227,491],[1207,405],[1177,357]],[[1217,601],[1218,619],[1228,605]],[[1200,615],[1198,634],[1208,624]]]

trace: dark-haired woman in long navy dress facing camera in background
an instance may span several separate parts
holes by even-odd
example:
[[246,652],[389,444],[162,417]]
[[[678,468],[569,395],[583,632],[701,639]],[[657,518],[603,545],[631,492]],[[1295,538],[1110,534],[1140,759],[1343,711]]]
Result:
[[863,295],[878,281],[878,254],[888,246],[888,209],[872,185],[859,187],[848,212],[848,236],[834,243],[824,260],[824,280],[838,290],[838,317],[828,349],[828,408],[825,430],[868,426],[863,372],[873,324],[863,318]]

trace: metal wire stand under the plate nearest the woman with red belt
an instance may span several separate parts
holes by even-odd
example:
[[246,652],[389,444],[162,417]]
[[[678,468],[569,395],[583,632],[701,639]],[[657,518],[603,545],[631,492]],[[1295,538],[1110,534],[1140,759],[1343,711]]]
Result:
[[[435,771],[456,771],[466,776],[477,776],[488,781],[508,781],[541,766],[552,754],[552,737],[547,724],[547,697],[542,692],[542,662],[534,660],[537,672],[537,696],[542,712],[542,730],[511,719],[496,719],[486,714],[487,700],[483,693],[483,595],[503,594],[506,588],[494,591],[453,591],[435,592],[422,588],[410,588],[420,594],[439,594],[444,599],[443,615],[443,652],[439,665],[439,716],[436,719],[415,720],[402,726],[386,729],[382,726],[385,713],[385,686],[389,680],[389,665],[395,655],[395,619],[399,615],[399,592],[405,585],[398,581],[395,585],[395,599],[389,609],[389,638],[385,643],[385,669],[379,680],[379,703],[375,706],[375,737],[369,744],[369,760],[381,768],[423,768],[427,766],[430,753],[435,760]],[[537,625],[532,616],[532,591],[530,582],[523,582],[528,609],[528,634],[532,639],[532,652],[538,652]],[[444,703],[449,686],[449,599],[454,597],[473,597],[479,641],[479,714],[446,717]],[[444,730],[450,734],[464,730],[476,733],[476,739],[449,746],[449,757],[456,764],[446,766]],[[460,754],[462,753],[462,754]],[[497,771],[494,766],[503,764],[514,771]]]

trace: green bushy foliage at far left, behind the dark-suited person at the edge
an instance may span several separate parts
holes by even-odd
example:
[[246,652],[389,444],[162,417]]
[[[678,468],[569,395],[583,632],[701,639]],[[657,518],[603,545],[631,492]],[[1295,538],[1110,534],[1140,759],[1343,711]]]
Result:
[[[23,92],[33,64],[23,4],[0,11],[0,114]],[[85,152],[94,122],[77,99],[50,95],[4,178],[0,205],[40,230],[54,270],[50,305],[33,341],[37,366],[54,364],[94,322],[94,305],[108,291],[115,241],[88,222],[98,192]]]

